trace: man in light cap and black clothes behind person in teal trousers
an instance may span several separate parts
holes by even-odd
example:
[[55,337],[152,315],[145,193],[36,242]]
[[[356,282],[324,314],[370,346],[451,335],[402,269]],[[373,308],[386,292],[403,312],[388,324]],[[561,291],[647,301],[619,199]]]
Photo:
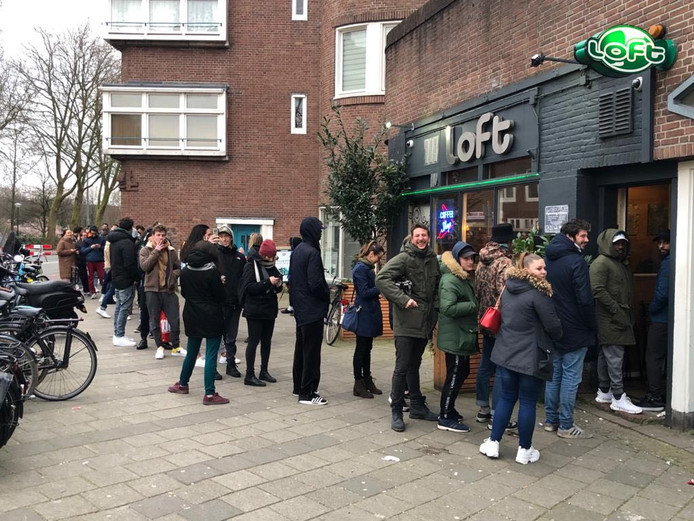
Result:
[[224,314],[224,350],[227,357],[226,373],[234,378],[240,378],[241,373],[236,367],[236,336],[239,333],[241,306],[239,305],[239,286],[246,257],[240,253],[234,244],[234,234],[226,224],[219,227],[219,242],[217,249],[221,258],[222,275],[224,276],[224,291],[226,299],[222,306]]

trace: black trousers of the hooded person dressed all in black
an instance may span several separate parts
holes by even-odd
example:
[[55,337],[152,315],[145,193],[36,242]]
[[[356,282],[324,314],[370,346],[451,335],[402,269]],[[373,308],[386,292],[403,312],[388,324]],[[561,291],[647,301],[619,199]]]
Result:
[[297,326],[294,344],[294,393],[299,399],[311,398],[320,383],[320,354],[323,345],[323,320]]

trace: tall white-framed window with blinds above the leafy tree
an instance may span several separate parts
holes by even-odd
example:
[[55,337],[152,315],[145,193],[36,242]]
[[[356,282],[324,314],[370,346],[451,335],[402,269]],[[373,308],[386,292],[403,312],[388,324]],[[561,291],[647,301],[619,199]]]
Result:
[[337,30],[335,97],[385,94],[386,37],[398,22],[374,22]]

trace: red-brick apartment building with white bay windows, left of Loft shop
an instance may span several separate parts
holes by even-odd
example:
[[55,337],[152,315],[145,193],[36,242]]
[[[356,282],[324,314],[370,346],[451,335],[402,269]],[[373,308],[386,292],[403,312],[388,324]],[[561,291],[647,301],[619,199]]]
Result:
[[[122,162],[123,212],[180,244],[197,223],[260,231],[280,248],[323,216],[316,138],[333,103],[382,124],[385,37],[423,0],[107,0],[122,81],[103,88],[104,149]],[[326,266],[352,244],[326,231]]]

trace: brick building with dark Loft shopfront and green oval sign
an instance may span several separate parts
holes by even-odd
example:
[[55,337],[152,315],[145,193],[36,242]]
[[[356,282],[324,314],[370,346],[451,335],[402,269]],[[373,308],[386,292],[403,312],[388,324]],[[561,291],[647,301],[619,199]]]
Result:
[[[480,246],[502,221],[557,233],[578,216],[592,223],[592,238],[607,227],[625,229],[639,339],[626,371],[637,384],[645,379],[647,306],[659,264],[653,237],[672,229],[670,334],[663,341],[671,355],[667,421],[680,428],[694,426],[692,7],[431,0],[393,29],[386,47],[385,110],[405,127],[389,148],[395,158],[410,154],[412,187],[394,239],[421,219],[438,252],[460,238]],[[621,24],[637,29],[615,28]],[[656,24],[664,35],[657,28],[653,38],[639,33]],[[587,56],[598,60],[606,49],[601,38],[616,33],[621,43],[610,44],[613,54],[605,51],[597,65],[552,61],[573,60],[577,44],[595,44]],[[625,36],[632,33],[635,40]],[[632,41],[639,43],[626,45]],[[674,63],[663,61],[674,57],[669,47],[660,61],[651,54],[667,45],[676,48]],[[639,60],[647,63],[634,72]]]

